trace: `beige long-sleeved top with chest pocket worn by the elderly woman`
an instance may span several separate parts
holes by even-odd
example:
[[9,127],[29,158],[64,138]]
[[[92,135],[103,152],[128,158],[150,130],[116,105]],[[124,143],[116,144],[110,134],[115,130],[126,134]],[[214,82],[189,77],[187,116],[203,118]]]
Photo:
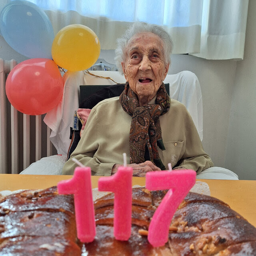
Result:
[[[119,97],[103,100],[91,111],[78,146],[71,154],[82,164],[89,166],[92,175],[110,176],[114,164],[123,164],[126,153],[130,163],[129,133],[132,117],[119,103]],[[198,132],[186,107],[171,99],[170,110],[160,116],[162,137],[166,150],[158,148],[160,158],[168,170],[193,169],[197,173],[213,166],[204,152]],[[69,159],[62,173],[72,175],[76,163]]]

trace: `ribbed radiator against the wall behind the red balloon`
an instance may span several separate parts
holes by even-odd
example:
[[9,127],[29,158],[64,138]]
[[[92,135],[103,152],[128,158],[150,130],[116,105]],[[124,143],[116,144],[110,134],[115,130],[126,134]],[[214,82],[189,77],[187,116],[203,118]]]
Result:
[[16,64],[0,58],[0,173],[18,174],[32,162],[56,153],[50,128],[42,121],[44,115],[22,114],[6,97],[6,78]]

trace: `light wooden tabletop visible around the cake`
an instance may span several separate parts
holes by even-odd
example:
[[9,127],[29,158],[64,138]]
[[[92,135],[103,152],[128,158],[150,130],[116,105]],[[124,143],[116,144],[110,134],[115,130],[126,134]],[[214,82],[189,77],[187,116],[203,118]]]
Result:
[[[0,174],[0,191],[18,189],[40,189],[57,185],[60,180],[72,178],[68,175]],[[92,176],[92,188],[98,186],[99,176]],[[256,180],[200,180],[210,187],[214,196],[241,214],[256,227]],[[145,185],[145,178],[134,177],[133,185]]]

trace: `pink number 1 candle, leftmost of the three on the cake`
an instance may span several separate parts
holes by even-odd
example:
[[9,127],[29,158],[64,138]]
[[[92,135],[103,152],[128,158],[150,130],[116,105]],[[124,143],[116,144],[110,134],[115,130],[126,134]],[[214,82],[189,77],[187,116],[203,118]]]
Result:
[[91,168],[76,167],[70,180],[57,185],[59,194],[74,194],[77,237],[83,243],[92,242],[96,235],[92,199]]

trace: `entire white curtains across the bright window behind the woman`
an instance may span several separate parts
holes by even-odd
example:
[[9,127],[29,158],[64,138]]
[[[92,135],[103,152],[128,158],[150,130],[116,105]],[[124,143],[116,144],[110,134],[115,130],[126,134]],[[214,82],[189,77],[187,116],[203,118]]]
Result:
[[[205,59],[243,59],[249,0],[29,0],[42,8],[56,34],[83,24],[98,36],[102,50],[134,21],[163,26],[174,41],[174,54]],[[11,0],[2,0],[0,10]]]

